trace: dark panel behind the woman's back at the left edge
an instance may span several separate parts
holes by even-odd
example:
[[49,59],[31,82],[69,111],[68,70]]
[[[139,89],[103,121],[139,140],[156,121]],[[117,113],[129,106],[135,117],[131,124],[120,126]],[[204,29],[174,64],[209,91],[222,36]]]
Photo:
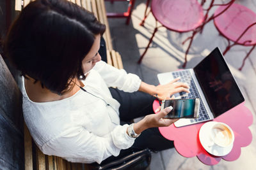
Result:
[[0,167],[24,169],[22,95],[0,55]]

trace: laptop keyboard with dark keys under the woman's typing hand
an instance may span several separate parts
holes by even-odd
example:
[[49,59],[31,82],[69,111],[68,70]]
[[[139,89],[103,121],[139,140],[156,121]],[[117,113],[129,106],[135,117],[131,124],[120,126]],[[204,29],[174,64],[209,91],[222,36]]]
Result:
[[173,75],[173,78],[177,78],[180,76],[180,80],[178,80],[178,82],[188,83],[188,85],[190,87],[189,94],[186,92],[180,92],[180,97],[182,99],[195,99],[195,98],[200,99],[199,117],[195,118],[195,119],[191,119],[190,120],[191,123],[209,119],[209,115],[207,114],[207,111],[205,110],[204,103],[202,102],[202,99],[199,96],[199,92],[196,89],[195,82],[194,82],[189,70],[174,72],[174,73],[172,73],[172,75]]

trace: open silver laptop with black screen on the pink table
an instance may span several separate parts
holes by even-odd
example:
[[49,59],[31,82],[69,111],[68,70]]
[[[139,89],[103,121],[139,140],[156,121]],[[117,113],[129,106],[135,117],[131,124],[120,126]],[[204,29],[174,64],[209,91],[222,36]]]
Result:
[[180,92],[175,98],[200,98],[200,109],[198,118],[181,118],[175,122],[176,127],[212,120],[244,101],[218,47],[193,69],[157,74],[161,85],[179,76],[179,81],[188,83],[190,93]]

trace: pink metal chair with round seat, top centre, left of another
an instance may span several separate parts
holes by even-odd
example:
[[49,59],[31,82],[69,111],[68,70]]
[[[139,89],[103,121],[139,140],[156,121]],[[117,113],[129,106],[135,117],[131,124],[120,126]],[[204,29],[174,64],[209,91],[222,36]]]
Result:
[[[198,32],[203,31],[205,24],[224,13],[231,6],[231,4],[234,3],[234,1],[235,0],[230,0],[227,4],[214,4],[214,0],[211,0],[211,3],[209,4],[208,8],[205,9],[204,14],[202,5],[204,5],[205,0],[202,0],[201,4],[199,4],[196,0],[152,0],[150,11],[154,15],[154,18],[156,18],[156,27],[145,49],[145,52],[143,52],[140,59],[138,60],[138,63],[141,63],[141,60],[147,52],[148,47],[150,46],[150,43],[152,42],[152,39],[157,32],[157,29],[159,29],[159,27],[166,27],[170,31],[176,32],[192,31],[192,36],[189,36],[189,38],[185,39],[182,43],[182,45],[184,45],[186,41],[190,40],[185,53],[185,62],[182,65],[182,67],[186,67],[187,55],[195,35]],[[149,0],[147,1],[147,6],[148,4]],[[223,10],[218,13],[218,15],[212,15],[209,17],[209,11],[213,6],[225,6],[225,8],[223,8]],[[144,24],[145,19],[147,18],[150,11],[147,13],[146,8],[145,17],[141,21],[140,25]],[[161,25],[157,26],[157,22],[160,22]]]

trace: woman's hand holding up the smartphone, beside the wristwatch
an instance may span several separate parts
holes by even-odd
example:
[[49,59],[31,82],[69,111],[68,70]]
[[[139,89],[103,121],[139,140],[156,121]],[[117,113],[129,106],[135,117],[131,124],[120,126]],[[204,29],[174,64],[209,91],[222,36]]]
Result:
[[148,129],[151,127],[166,127],[173,124],[179,119],[164,118],[171,110],[172,108],[167,107],[164,110],[159,111],[159,113],[157,114],[147,115],[140,122],[134,124],[133,126],[134,131],[136,132],[136,134],[140,134],[145,129]]

